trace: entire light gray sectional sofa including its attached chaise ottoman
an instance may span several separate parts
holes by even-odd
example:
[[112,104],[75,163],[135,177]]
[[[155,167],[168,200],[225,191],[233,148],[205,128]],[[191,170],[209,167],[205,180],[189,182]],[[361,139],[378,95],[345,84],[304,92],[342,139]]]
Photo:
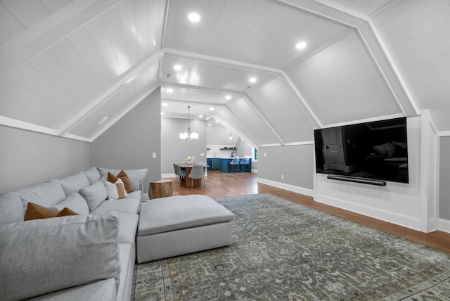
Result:
[[[0,195],[0,300],[130,300],[136,254],[141,263],[231,244],[233,214],[212,198],[143,200],[148,170],[126,169],[134,191],[107,199],[108,172],[121,171],[91,167]],[[79,215],[24,222],[28,203]]]

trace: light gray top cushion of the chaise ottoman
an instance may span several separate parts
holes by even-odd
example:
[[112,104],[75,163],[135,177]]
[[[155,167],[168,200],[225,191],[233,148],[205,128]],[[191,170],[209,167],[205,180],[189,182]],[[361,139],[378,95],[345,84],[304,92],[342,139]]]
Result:
[[209,196],[171,196],[142,203],[138,236],[230,222],[233,213]]

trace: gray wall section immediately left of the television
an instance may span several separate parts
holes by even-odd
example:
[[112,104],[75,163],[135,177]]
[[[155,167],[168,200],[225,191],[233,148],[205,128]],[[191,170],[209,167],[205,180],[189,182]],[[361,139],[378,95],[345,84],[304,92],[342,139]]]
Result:
[[[264,157],[264,153],[266,156]],[[274,146],[258,150],[258,177],[302,188],[314,188],[314,146]],[[284,179],[281,179],[281,175]]]

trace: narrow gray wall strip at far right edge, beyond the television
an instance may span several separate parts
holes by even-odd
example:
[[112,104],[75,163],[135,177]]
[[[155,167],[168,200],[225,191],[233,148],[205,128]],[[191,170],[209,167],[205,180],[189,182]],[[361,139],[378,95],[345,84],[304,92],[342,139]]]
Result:
[[441,137],[439,144],[439,218],[450,220],[450,137]]

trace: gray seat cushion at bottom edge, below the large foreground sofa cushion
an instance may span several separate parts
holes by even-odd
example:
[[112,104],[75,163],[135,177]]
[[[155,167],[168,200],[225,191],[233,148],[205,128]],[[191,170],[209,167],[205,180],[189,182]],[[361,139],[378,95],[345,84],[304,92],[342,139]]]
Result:
[[58,290],[54,293],[41,295],[27,299],[27,301],[117,301],[114,278],[85,284],[84,286],[75,286],[75,288],[67,288]]

